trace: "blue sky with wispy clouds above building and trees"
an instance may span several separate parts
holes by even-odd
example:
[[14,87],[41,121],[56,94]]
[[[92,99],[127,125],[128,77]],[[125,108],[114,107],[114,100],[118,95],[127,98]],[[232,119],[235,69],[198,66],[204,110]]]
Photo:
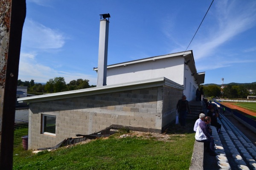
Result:
[[[185,51],[212,0],[26,0],[19,77],[96,85],[99,14],[108,65]],[[256,82],[256,1],[215,0],[188,50],[205,84]]]

